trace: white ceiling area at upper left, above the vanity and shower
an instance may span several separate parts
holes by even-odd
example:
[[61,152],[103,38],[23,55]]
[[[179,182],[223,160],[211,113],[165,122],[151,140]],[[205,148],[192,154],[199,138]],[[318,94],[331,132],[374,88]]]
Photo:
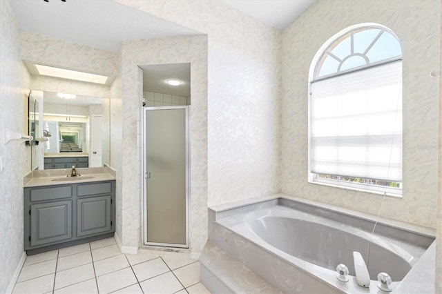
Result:
[[113,52],[126,40],[200,34],[113,0],[10,3],[23,31]]

